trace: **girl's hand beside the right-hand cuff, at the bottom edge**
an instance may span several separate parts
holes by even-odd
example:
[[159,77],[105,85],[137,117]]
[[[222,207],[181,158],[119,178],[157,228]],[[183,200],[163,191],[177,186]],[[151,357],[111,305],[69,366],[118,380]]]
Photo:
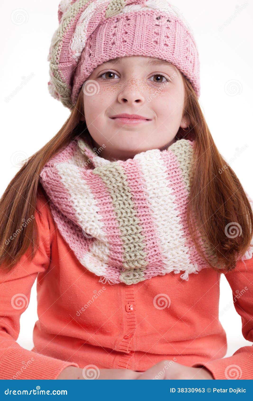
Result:
[[206,368],[191,368],[180,365],[173,360],[162,360],[142,373],[138,380],[214,380],[213,375]]

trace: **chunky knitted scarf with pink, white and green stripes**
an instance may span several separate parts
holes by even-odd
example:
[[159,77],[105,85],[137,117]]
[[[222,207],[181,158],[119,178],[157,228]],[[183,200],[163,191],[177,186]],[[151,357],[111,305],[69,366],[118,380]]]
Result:
[[194,140],[128,160],[107,160],[102,149],[76,136],[40,173],[53,219],[80,263],[103,284],[128,285],[171,272],[188,280],[208,267],[186,220]]

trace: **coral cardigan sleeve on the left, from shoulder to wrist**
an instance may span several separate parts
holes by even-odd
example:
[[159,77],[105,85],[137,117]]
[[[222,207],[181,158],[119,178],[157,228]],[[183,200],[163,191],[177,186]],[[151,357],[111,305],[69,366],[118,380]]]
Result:
[[[20,315],[30,301],[32,285],[39,272],[50,264],[50,210],[41,189],[38,189],[34,216],[38,225],[39,245],[32,261],[28,248],[7,272],[0,266],[0,379],[56,379],[67,366],[76,363],[51,358],[22,348],[16,340],[20,332]],[[52,229],[51,229],[52,231]],[[14,235],[10,239],[15,241]]]

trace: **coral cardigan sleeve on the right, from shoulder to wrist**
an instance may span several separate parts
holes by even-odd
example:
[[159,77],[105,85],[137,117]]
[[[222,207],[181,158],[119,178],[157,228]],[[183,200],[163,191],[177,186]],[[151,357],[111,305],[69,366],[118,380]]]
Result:
[[[233,293],[235,310],[241,316],[243,337],[253,342],[253,257],[239,260],[235,269],[224,274]],[[214,379],[253,379],[253,345],[239,348],[232,356],[195,363],[205,367]]]

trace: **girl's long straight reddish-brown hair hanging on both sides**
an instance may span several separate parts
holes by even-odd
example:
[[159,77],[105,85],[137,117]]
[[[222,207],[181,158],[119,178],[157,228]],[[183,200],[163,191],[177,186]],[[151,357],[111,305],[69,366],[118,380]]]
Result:
[[[181,128],[176,140],[194,139],[195,147],[190,171],[190,194],[187,220],[194,245],[206,264],[215,270],[235,268],[253,237],[253,212],[247,194],[235,172],[219,153],[210,134],[198,99],[188,79],[183,75],[184,115],[189,124]],[[77,135],[90,135],[85,122],[83,91],[75,107],[57,134],[30,156],[8,184],[0,199],[0,266],[12,269],[31,246],[31,259],[38,247],[38,227],[31,219],[36,210],[39,175],[43,166]],[[226,168],[223,168],[226,166]],[[222,172],[222,173],[221,173]],[[42,188],[42,187],[41,187]],[[30,221],[20,230],[22,222]],[[226,228],[235,227],[240,235],[227,235]],[[17,233],[14,241],[9,239]],[[23,235],[25,233],[25,235]],[[203,241],[203,242],[202,242]],[[202,243],[208,244],[203,252]],[[208,257],[209,255],[209,257]]]

